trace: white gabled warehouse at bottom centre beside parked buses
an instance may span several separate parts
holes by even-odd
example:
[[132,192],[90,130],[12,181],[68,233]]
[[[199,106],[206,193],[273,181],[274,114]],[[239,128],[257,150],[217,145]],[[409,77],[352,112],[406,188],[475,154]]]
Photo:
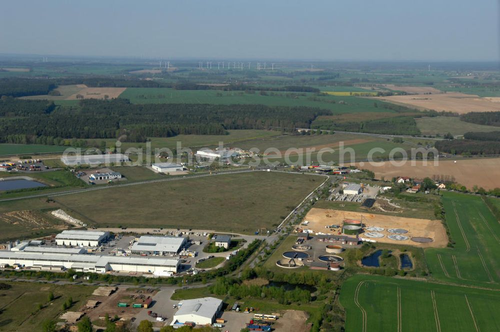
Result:
[[179,303],[179,309],[173,315],[170,325],[182,325],[194,322],[196,325],[211,324],[217,312],[222,308],[222,300],[215,297],[185,299]]

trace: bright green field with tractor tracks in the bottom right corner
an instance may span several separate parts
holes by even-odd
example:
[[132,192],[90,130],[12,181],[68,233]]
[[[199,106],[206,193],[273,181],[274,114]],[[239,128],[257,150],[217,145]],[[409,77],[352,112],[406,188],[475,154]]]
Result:
[[500,329],[500,293],[382,276],[342,284],[346,332],[470,332]]

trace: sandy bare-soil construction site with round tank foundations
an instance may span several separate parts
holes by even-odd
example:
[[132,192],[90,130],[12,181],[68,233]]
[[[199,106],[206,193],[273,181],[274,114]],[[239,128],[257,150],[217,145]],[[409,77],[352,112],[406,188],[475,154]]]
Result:
[[[439,220],[407,218],[326,208],[311,208],[305,215],[306,229],[313,233],[337,234],[346,220],[361,224],[358,236],[365,241],[407,244],[418,247],[445,247],[448,243],[446,229]],[[349,235],[352,235],[349,233]]]

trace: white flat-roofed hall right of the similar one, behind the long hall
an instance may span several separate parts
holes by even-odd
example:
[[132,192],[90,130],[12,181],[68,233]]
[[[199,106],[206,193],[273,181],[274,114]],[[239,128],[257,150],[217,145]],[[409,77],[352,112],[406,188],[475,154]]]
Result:
[[132,244],[133,253],[156,252],[158,254],[177,254],[186,245],[187,238],[179,236],[142,235]]

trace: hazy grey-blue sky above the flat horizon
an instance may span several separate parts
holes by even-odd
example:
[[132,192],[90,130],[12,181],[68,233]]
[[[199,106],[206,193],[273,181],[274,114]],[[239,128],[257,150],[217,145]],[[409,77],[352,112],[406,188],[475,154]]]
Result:
[[497,61],[498,1],[3,1],[0,53]]

